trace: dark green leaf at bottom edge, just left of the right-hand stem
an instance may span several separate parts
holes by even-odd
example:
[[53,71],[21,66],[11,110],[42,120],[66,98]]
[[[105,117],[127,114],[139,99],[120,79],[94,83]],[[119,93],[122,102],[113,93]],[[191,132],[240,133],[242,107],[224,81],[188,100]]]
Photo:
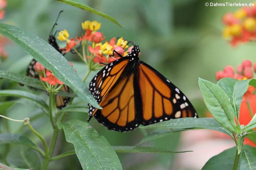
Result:
[[213,156],[203,166],[202,170],[232,169],[235,160],[236,148],[227,149]]

